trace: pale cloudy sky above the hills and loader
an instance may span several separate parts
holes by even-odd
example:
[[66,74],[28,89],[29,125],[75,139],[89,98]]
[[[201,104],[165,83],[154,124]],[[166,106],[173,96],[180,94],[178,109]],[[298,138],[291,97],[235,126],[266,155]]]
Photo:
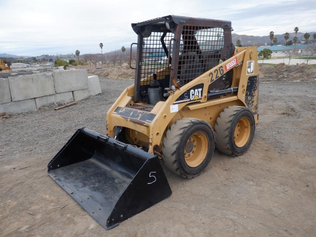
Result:
[[[261,1],[260,1],[261,2]],[[131,23],[165,15],[232,21],[233,33],[316,31],[315,0],[0,0],[0,53],[100,53],[137,42]]]

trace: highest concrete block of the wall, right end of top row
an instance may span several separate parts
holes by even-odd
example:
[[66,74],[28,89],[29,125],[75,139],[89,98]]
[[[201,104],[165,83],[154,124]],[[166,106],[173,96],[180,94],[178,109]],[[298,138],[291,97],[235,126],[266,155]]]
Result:
[[54,72],[53,77],[56,93],[88,88],[88,73],[86,69]]

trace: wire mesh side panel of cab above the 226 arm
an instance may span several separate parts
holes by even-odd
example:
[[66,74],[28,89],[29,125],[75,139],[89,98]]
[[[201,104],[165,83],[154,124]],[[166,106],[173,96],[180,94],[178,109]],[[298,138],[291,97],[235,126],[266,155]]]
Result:
[[177,74],[179,86],[218,65],[223,47],[222,28],[184,26]]

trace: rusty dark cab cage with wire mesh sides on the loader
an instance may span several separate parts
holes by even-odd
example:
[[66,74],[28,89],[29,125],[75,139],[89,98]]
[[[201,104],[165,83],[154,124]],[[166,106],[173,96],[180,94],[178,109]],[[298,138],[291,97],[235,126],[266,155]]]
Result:
[[[161,88],[173,85],[171,77],[182,87],[234,52],[230,21],[169,15],[132,27],[138,34],[134,102],[148,102],[153,73]],[[223,76],[216,87],[230,82],[230,75]]]

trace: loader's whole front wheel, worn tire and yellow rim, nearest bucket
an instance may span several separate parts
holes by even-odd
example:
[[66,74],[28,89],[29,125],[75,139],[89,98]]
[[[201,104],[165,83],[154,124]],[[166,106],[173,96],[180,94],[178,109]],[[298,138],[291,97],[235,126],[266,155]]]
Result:
[[162,145],[166,167],[185,178],[201,174],[210,163],[215,148],[212,128],[200,119],[183,118],[168,129]]

